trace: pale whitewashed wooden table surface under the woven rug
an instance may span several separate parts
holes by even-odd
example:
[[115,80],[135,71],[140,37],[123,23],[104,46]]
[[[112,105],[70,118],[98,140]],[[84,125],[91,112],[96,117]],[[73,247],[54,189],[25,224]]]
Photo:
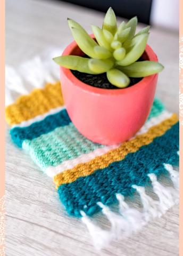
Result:
[[[6,0],[6,64],[16,67],[51,46],[63,49],[72,41],[67,17],[91,32],[90,24],[102,25],[104,14],[59,1]],[[178,34],[152,28],[148,43],[165,66],[156,96],[170,111],[178,113]],[[178,206],[148,223],[138,234],[113,242],[98,253],[83,223],[68,217],[64,211],[52,180],[12,144],[8,130],[9,127],[6,133],[6,256],[178,255]]]

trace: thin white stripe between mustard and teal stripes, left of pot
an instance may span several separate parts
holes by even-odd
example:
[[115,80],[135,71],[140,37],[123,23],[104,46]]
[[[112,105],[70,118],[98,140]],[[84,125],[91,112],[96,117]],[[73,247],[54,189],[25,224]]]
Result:
[[65,106],[57,107],[57,108],[52,108],[48,112],[46,112],[45,114],[36,116],[36,117],[31,118],[31,119],[29,119],[27,121],[23,121],[20,124],[15,124],[15,125],[12,126],[12,128],[14,128],[14,127],[27,127],[27,126],[35,123],[35,122],[42,121],[43,119],[45,119],[45,117],[47,117],[49,115],[53,115],[53,114],[59,113],[63,109],[65,109]]

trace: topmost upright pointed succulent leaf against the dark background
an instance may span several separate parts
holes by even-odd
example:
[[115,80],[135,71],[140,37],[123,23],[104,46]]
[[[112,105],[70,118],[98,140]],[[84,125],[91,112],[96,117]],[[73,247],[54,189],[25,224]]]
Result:
[[115,13],[111,7],[105,14],[102,29],[109,30],[112,33],[112,35],[114,35],[117,31],[117,19],[115,18]]

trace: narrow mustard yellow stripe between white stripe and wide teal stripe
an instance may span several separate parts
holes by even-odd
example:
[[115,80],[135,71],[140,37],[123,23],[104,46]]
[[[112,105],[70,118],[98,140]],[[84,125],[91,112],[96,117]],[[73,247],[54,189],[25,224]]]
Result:
[[71,183],[80,177],[85,177],[98,169],[103,169],[115,161],[121,161],[129,153],[136,152],[140,147],[148,145],[154,138],[160,137],[172,125],[178,122],[178,117],[173,114],[158,125],[151,127],[148,132],[137,135],[134,139],[124,142],[117,149],[112,149],[102,156],[97,156],[87,163],[76,165],[73,169],[55,175],[54,182],[56,187],[64,183]]

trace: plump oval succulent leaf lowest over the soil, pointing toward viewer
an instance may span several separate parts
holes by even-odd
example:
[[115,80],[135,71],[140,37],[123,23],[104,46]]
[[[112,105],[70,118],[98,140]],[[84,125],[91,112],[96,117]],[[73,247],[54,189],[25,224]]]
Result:
[[112,68],[107,71],[107,79],[117,87],[124,88],[130,83],[130,79],[122,71],[117,68]]

